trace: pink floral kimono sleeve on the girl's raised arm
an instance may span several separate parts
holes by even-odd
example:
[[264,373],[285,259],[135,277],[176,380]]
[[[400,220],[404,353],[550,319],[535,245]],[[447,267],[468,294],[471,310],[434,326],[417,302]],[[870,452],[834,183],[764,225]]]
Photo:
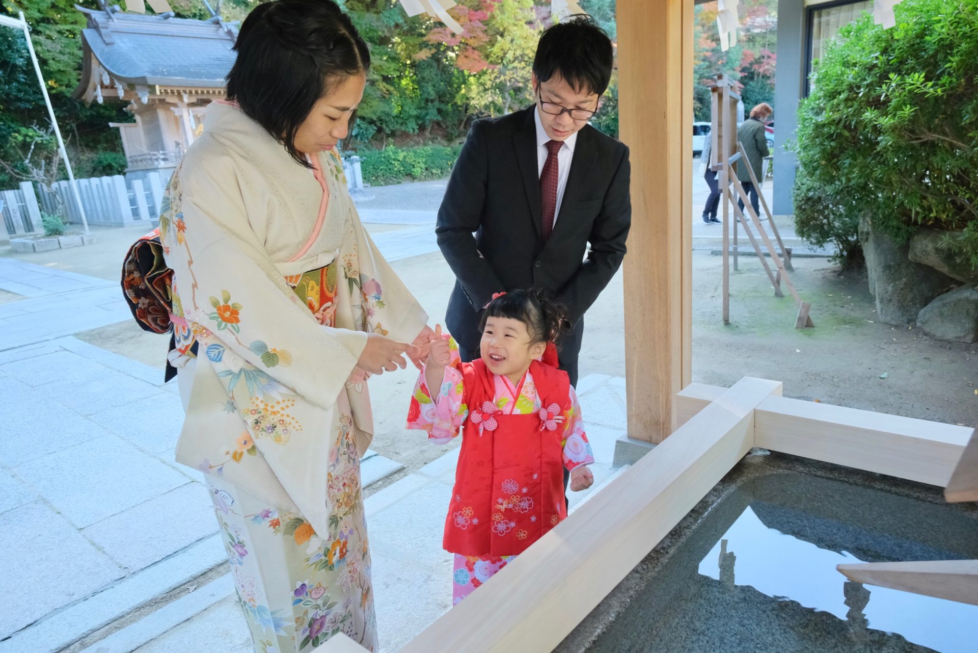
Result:
[[468,406],[464,401],[459,346],[447,334],[443,338],[449,342],[452,363],[445,368],[441,387],[436,388],[434,393],[427,387],[424,372],[419,375],[414,396],[411,397],[407,427],[413,431],[427,432],[428,440],[438,444],[452,442],[461,433],[462,425],[468,417]]

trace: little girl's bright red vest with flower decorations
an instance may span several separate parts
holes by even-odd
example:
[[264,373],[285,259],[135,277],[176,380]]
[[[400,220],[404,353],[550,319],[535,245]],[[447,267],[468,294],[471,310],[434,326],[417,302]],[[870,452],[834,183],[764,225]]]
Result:
[[567,516],[565,425],[553,417],[570,408],[570,380],[566,372],[534,361],[530,374],[540,413],[504,415],[495,408],[495,379],[485,363],[463,363],[462,373],[468,418],[443,546],[472,556],[522,553]]

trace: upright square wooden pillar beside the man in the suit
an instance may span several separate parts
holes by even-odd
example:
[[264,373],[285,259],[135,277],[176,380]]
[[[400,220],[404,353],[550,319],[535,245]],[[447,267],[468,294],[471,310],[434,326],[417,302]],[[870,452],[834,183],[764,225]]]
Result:
[[631,150],[628,431],[660,443],[692,380],[691,0],[618,0],[618,116]]

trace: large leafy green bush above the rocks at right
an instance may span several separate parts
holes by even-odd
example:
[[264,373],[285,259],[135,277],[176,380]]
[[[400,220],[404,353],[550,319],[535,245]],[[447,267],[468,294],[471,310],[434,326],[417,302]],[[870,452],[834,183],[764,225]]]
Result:
[[904,0],[896,18],[864,14],[817,63],[791,146],[799,228],[848,244],[866,212],[899,241],[963,230],[978,264],[978,0]]

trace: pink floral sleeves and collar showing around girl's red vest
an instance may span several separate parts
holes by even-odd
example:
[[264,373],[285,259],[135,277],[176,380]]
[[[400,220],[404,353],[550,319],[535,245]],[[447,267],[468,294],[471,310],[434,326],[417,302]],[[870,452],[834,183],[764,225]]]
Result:
[[[445,368],[445,376],[441,387],[435,395],[427,387],[424,373],[415,384],[414,396],[408,409],[407,428],[424,431],[428,440],[433,443],[445,444],[452,442],[461,432],[468,418],[468,406],[465,404],[465,386],[462,380],[462,358],[459,346],[451,336],[444,335],[449,341],[452,355],[451,364]],[[539,413],[540,397],[537,396],[533,376],[527,372],[522,385],[518,389],[510,379],[496,375],[496,407],[504,415],[528,415]],[[577,402],[574,388],[571,386],[569,396],[570,408],[562,412],[560,422],[563,429],[561,446],[563,447],[563,463],[568,470],[580,465],[590,465],[595,462],[591,443],[584,432],[584,422],[581,419],[581,406]],[[437,397],[435,400],[434,397]]]

